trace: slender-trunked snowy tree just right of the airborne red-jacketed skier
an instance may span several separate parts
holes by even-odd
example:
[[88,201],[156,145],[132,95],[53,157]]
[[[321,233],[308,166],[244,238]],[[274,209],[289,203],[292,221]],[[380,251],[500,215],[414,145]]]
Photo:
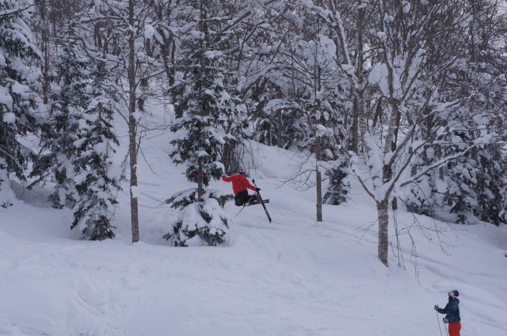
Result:
[[[311,169],[299,167],[290,180],[315,186],[316,217],[317,222],[322,222],[323,161],[335,159],[337,146],[332,143],[333,130],[341,121],[337,105],[338,87],[343,80],[339,76],[341,69],[336,65],[337,46],[329,37],[332,30],[326,21],[304,3],[289,7],[282,18],[290,33],[284,35],[280,55],[274,62],[283,76],[285,93],[283,98],[269,101],[265,108],[295,111],[302,121],[300,132],[308,129],[301,148],[315,154],[315,165]],[[294,123],[294,119],[290,122]],[[313,173],[315,184],[308,185],[309,175]]]

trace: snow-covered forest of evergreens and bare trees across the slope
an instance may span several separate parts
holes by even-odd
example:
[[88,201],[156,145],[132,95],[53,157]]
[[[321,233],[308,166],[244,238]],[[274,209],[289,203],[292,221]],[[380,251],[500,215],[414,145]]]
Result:
[[311,158],[292,182],[317,222],[358,181],[388,265],[391,210],[507,224],[506,74],[505,0],[0,0],[0,205],[15,180],[51,184],[106,240],[124,188],[137,242],[140,148],[164,127],[194,186],[167,199],[165,238],[217,245],[231,197],[208,185],[245,168],[248,139]]

